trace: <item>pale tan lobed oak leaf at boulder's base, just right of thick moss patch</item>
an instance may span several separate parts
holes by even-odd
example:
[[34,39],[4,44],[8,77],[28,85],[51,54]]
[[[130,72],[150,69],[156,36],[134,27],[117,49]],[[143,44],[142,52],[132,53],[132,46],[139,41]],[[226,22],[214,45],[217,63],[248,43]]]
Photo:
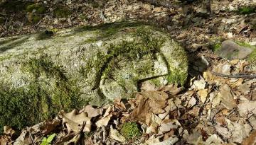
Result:
[[72,112],[65,113],[64,110],[62,110],[60,111],[60,117],[62,117],[63,122],[66,123],[69,132],[80,132],[80,128],[84,122],[85,128],[83,132],[90,132],[92,123],[90,122],[90,117],[87,117],[85,112],[78,114],[78,110],[73,110]]

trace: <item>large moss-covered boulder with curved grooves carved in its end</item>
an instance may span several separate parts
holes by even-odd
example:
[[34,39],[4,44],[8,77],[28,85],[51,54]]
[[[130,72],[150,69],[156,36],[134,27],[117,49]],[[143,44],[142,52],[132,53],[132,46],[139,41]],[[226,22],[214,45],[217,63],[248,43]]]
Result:
[[129,98],[143,81],[182,85],[187,71],[183,48],[142,23],[0,38],[0,127]]

